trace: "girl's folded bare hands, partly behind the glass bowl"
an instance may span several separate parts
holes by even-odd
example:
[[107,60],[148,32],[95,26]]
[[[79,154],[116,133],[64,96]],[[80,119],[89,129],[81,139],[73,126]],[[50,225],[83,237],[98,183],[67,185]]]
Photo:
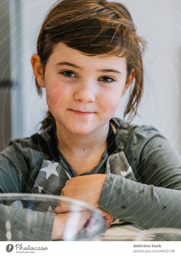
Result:
[[[92,204],[94,208],[99,208],[102,212],[102,216],[105,217],[106,229],[110,227],[113,217],[105,210],[98,206],[98,200],[101,194],[101,188],[105,182],[106,174],[92,174],[77,176],[67,180],[64,188],[62,189],[63,197],[71,197],[81,201],[86,204]],[[86,206],[85,204],[85,206]],[[70,206],[58,206],[55,208],[54,213],[56,213],[55,222],[52,230],[52,239],[62,239],[66,222],[70,214]],[[88,222],[90,219],[90,213],[85,212],[80,216],[81,221],[77,225],[77,232]],[[58,229],[60,232],[60,227],[56,224],[62,224],[62,235],[57,234]],[[60,226],[60,225],[59,225]],[[86,225],[85,225],[86,226]]]

